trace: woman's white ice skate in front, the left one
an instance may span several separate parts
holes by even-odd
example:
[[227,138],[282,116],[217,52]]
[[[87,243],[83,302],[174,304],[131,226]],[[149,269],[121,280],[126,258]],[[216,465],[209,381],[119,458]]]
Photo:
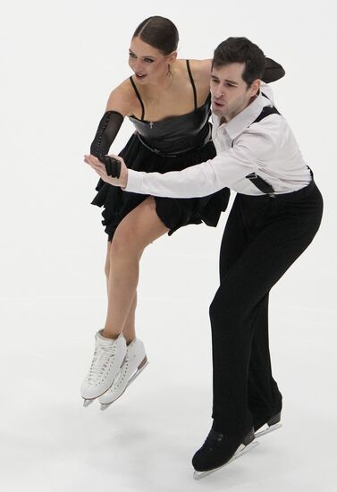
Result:
[[116,339],[108,340],[97,332],[91,367],[80,388],[83,406],[88,406],[114,383],[125,355],[126,343],[122,334]]

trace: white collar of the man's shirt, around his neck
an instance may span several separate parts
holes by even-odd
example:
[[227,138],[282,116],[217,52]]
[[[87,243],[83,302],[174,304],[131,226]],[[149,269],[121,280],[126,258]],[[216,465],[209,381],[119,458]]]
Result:
[[262,96],[260,91],[257,98],[255,98],[249,106],[245,107],[239,115],[234,116],[230,122],[220,125],[220,117],[214,115],[216,118],[215,121],[219,125],[218,128],[221,126],[227,132],[230,139],[234,140],[240,135],[240,133],[242,133],[242,131],[245,131],[251,123],[255,122],[257,116],[261,113],[265,106],[273,106],[273,103],[270,99]]

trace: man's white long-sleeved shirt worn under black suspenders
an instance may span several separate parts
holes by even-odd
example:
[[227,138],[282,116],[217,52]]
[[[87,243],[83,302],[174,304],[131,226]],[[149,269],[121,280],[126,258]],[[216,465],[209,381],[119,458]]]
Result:
[[265,106],[273,106],[271,89],[266,85],[261,89],[257,98],[229,123],[221,123],[221,118],[213,115],[216,157],[183,171],[165,174],[129,169],[124,191],[193,198],[228,187],[246,195],[262,195],[246,177],[251,173],[271,184],[275,194],[307,186],[311,181],[308,166],[283,116],[268,115],[254,123]]

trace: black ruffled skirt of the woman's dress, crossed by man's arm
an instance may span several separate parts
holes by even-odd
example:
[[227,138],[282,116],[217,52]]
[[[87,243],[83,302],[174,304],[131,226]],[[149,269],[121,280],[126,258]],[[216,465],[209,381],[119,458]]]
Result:
[[[120,156],[124,159],[125,164],[135,171],[167,173],[168,171],[181,171],[185,167],[215,157],[215,146],[212,141],[208,141],[202,148],[193,148],[177,157],[167,157],[158,155],[145,147],[134,133],[122,149]],[[108,241],[112,241],[114,231],[124,216],[127,216],[133,208],[146,199],[147,195],[122,191],[102,180],[99,180],[96,190],[97,195],[91,203],[97,207],[104,207],[102,224],[105,225]],[[155,197],[156,213],[169,229],[169,235],[182,225],[204,222],[206,225],[215,227],[221,212],[227,208],[229,197],[228,188],[197,199]]]

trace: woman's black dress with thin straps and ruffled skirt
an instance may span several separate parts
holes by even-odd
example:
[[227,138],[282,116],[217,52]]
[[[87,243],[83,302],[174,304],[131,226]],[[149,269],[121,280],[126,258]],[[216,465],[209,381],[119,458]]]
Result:
[[[131,136],[120,156],[125,164],[136,171],[167,173],[181,171],[215,157],[211,139],[210,95],[202,106],[197,107],[197,93],[187,61],[191,87],[194,93],[195,109],[187,115],[171,116],[159,122],[144,120],[144,105],[139,91],[131,79],[133,88],[142,106],[141,119],[130,116],[136,131]],[[124,216],[139,205],[147,195],[122,191],[121,188],[99,180],[97,195],[92,204],[104,207],[102,216],[108,241]],[[220,214],[227,208],[230,191],[221,191],[198,199],[169,199],[154,197],[156,213],[169,229],[169,235],[182,225],[217,225]]]

